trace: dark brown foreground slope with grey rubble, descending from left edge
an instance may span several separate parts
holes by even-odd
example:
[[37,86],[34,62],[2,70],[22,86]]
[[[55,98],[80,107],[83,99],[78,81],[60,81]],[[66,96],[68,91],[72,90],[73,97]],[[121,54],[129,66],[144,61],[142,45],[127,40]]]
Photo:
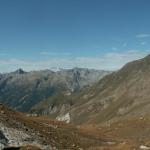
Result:
[[23,114],[0,104],[0,149],[83,150],[107,145],[107,140],[103,133],[86,132],[71,124]]

